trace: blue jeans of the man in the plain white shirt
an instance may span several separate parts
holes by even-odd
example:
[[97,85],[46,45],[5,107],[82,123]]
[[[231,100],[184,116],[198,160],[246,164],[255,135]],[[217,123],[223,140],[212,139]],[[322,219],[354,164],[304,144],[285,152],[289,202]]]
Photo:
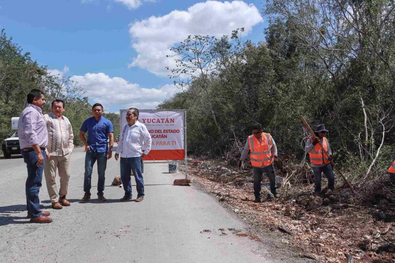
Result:
[[144,180],[141,172],[141,157],[120,158],[120,180],[122,181],[125,196],[132,197],[132,183],[130,180],[133,171],[136,179],[137,197],[144,196]]

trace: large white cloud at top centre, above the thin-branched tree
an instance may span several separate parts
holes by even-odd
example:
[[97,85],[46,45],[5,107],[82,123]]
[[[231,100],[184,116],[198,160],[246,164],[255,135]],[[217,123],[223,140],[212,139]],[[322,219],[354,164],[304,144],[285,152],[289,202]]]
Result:
[[174,10],[167,15],[152,16],[132,23],[129,34],[137,57],[129,67],[140,67],[159,76],[169,72],[166,66],[174,66],[174,60],[166,58],[169,49],[189,35],[222,37],[243,27],[245,34],[263,21],[253,4],[243,1],[206,1],[194,4],[187,11]]

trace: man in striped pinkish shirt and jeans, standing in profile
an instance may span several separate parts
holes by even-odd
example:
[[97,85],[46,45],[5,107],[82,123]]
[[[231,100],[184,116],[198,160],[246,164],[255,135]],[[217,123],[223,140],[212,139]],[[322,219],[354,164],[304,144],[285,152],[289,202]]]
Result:
[[50,223],[49,212],[40,210],[39,193],[42,172],[46,159],[45,148],[48,144],[48,132],[42,116],[45,105],[44,93],[33,89],[27,95],[27,105],[19,116],[18,137],[21,154],[26,163],[28,178],[26,180],[26,201],[28,218],[31,223]]

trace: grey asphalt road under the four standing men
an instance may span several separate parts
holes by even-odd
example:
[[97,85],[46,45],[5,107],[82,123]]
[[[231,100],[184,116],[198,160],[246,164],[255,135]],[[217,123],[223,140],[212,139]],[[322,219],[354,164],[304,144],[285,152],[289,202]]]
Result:
[[[247,226],[210,195],[194,186],[172,186],[183,175],[167,173],[167,164],[145,164],[143,202],[120,202],[122,188],[110,186],[119,174],[113,157],[106,170],[108,201],[99,202],[93,187],[92,199],[83,204],[78,202],[83,196],[82,148],[75,149],[72,163],[71,206],[51,209],[43,180],[40,201],[53,223],[30,224],[23,158],[0,159],[1,262],[279,262],[263,242],[237,236]],[[96,167],[92,182],[96,186]]]

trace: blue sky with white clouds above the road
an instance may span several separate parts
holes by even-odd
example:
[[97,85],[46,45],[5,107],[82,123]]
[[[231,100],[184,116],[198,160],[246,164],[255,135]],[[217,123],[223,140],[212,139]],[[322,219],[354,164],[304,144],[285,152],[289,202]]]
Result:
[[0,28],[105,112],[155,109],[180,89],[170,48],[188,35],[264,39],[263,0],[0,0]]

